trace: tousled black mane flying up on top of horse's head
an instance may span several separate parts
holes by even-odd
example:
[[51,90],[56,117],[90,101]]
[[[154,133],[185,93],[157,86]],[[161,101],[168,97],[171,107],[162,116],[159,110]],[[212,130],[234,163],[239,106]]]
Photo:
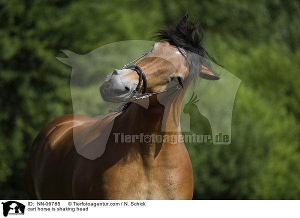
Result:
[[[154,38],[157,38],[158,40],[168,41],[174,44],[175,46],[180,46],[185,50],[189,51],[188,53],[190,55],[191,62],[193,65],[190,66],[190,76],[193,79],[197,78],[201,73],[199,70],[199,61],[201,62],[201,64],[206,66],[211,72],[217,75],[217,73],[211,69],[209,61],[207,61],[207,59],[218,64],[217,61],[202,46],[204,36],[203,28],[200,26],[199,23],[193,23],[188,18],[187,13],[178,20],[177,26],[175,28],[170,26],[158,29],[154,33],[156,33],[156,35],[153,36]],[[199,56],[204,58],[199,58]]]

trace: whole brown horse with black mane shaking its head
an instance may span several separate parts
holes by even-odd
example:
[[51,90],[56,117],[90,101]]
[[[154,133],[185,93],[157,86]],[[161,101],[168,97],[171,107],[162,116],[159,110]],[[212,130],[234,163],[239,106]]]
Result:
[[[187,15],[179,20],[176,30],[161,30],[159,37],[165,40],[155,43],[136,62],[147,81],[145,91],[179,88],[148,96],[147,108],[133,101],[121,111],[104,116],[68,114],[51,121],[39,132],[30,150],[24,174],[30,199],[192,198],[192,167],[183,142],[115,141],[114,133],[181,135],[180,107],[186,87],[197,76],[218,79],[189,52],[207,55],[200,45],[196,25]],[[104,100],[120,102],[132,96],[138,81],[139,75],[133,69],[113,70],[100,92]],[[138,91],[144,87],[142,79]],[[73,133],[86,133],[84,148],[111,120],[114,122],[103,153],[95,159],[78,154]],[[162,126],[168,131],[162,131]]]

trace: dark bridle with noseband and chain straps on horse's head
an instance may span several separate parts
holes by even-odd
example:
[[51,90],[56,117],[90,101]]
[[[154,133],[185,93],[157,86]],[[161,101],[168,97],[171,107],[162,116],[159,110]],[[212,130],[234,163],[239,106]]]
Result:
[[[182,54],[182,56],[184,56],[184,58],[186,59],[187,63],[188,63],[188,66],[191,64],[191,61],[189,60],[185,50],[180,47],[180,46],[177,46],[179,52]],[[147,78],[144,74],[144,72],[142,71],[142,69],[137,66],[137,65],[130,65],[131,63],[134,63],[136,62],[137,60],[139,60],[140,58],[142,58],[143,56],[145,56],[146,54],[148,54],[151,50],[148,50],[147,52],[143,53],[140,57],[136,58],[135,60],[132,60],[130,61],[129,63],[125,64],[121,69],[131,69],[131,70],[134,70],[136,71],[137,75],[138,75],[138,83],[136,85],[136,88],[134,90],[134,92],[139,92],[139,89],[140,89],[140,85],[141,85],[141,81],[143,83],[143,90],[142,90],[142,94],[144,94],[146,92],[146,89],[147,89]],[[179,81],[179,84],[182,86],[182,83],[184,81]],[[175,85],[173,87],[170,87],[168,89],[164,89],[162,91],[158,91],[158,92],[154,92],[154,93],[148,93],[148,94],[145,94],[145,95],[142,95],[142,96],[133,96],[133,98],[135,98],[136,100],[137,99],[140,99],[140,98],[147,98],[153,94],[158,94],[158,93],[161,93],[161,92],[165,92],[165,91],[170,91],[170,90],[173,90],[173,89],[178,89],[179,86],[178,85]]]

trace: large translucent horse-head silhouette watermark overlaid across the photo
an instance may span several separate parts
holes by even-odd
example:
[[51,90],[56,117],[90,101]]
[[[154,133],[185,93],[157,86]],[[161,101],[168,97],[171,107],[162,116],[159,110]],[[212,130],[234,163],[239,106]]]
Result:
[[[177,48],[166,43],[127,40],[98,47],[84,55],[70,50],[61,51],[67,57],[57,57],[57,59],[72,67],[70,91],[74,112],[74,146],[76,151],[85,158],[100,157],[106,146],[115,142],[226,145],[231,143],[232,109],[240,79],[209,59],[196,53],[189,53],[192,59],[196,60],[195,63],[203,63],[193,69],[191,74],[194,78],[202,76],[203,79],[192,79],[191,82],[187,74],[183,76],[182,65],[178,62],[178,58],[182,59],[184,55],[180,56]],[[154,60],[152,58],[155,57],[166,67],[164,74],[160,72],[159,75],[169,79],[165,85],[157,89],[158,92],[142,93],[144,81],[141,82],[140,91],[135,92],[139,82],[135,79],[138,72],[135,69],[123,68],[124,64],[136,63],[134,61],[139,57],[147,58],[144,53],[151,57],[149,61]],[[149,62],[153,70],[150,68],[147,70],[143,64],[137,64],[142,70],[147,71],[145,78],[141,79],[148,81],[149,90],[152,90],[151,87],[160,86],[158,84],[161,81],[155,76],[158,73],[155,71],[157,61]],[[210,76],[203,77],[204,74],[208,75],[207,73]],[[216,79],[215,75],[218,75],[219,79]],[[210,80],[211,78],[213,81]],[[191,83],[192,85],[189,85]],[[150,106],[154,102],[157,107]],[[153,109],[158,107],[164,109],[160,111]],[[125,110],[126,112],[122,112]],[[97,121],[85,123],[84,126],[80,125],[82,128],[77,128],[76,120],[81,120],[81,115],[96,117],[94,120]],[[160,121],[149,122],[149,117],[160,117]],[[124,120],[132,120],[134,125]],[[179,124],[180,128],[174,128]],[[147,126],[147,129],[151,129],[151,125],[156,127],[159,125],[159,129],[154,126],[152,132],[140,129],[144,132],[143,136],[113,134],[113,132],[135,133],[136,125]],[[114,128],[116,126],[121,128]],[[94,129],[97,129],[97,132],[93,133]],[[175,135],[165,132],[172,132]],[[181,133],[190,134],[181,135]],[[115,137],[115,140],[108,140],[110,137]]]

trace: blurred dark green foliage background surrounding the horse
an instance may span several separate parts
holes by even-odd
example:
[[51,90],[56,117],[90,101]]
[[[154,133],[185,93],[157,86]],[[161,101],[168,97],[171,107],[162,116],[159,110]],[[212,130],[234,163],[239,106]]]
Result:
[[27,198],[33,139],[72,113],[71,68],[59,50],[149,40],[186,11],[201,22],[205,47],[241,79],[231,145],[187,145],[194,198],[300,198],[298,0],[0,0],[1,199]]

